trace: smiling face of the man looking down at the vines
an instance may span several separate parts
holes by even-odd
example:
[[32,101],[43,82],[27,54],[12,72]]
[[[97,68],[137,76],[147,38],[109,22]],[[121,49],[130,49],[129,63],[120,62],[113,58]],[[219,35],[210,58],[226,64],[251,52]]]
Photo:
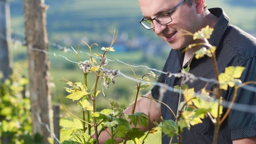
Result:
[[[145,19],[153,19],[156,16],[170,11],[181,0],[139,0],[139,7]],[[195,9],[195,4],[189,7],[183,3],[171,13],[172,22],[167,25],[161,25],[153,20],[155,28],[152,30],[172,49],[181,49],[192,43],[193,37],[181,35],[185,32],[182,29],[194,33],[200,29],[197,22],[200,21],[199,14]]]

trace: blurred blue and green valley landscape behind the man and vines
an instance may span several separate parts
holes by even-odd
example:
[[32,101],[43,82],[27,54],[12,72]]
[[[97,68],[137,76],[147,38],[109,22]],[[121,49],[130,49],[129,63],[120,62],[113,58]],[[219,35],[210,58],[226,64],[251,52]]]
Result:
[[[137,78],[148,73],[149,68],[161,70],[170,47],[160,40],[152,30],[146,30],[139,24],[142,18],[137,0],[45,0],[47,10],[47,31],[49,37],[49,59],[51,74],[51,96],[52,104],[59,104],[62,100],[67,108],[79,116],[81,109],[76,102],[65,99],[69,94],[65,91],[67,87],[63,78],[73,82],[83,81],[83,72],[79,69],[77,55],[71,49],[77,49],[79,41],[85,41],[93,46],[92,53],[102,53],[100,48],[109,47],[113,38],[114,29],[118,30],[117,40],[113,47],[115,52],[109,52],[107,58],[121,62],[109,62],[106,68],[118,69],[123,74]],[[256,37],[256,0],[206,0],[208,8],[223,8],[233,25],[240,27],[249,34]],[[11,39],[12,55],[14,62],[18,62],[25,69],[21,73],[28,77],[27,71],[27,47],[25,42],[25,28],[23,15],[23,1],[10,0],[11,12]],[[60,50],[62,49],[62,50]],[[80,50],[81,61],[89,60],[89,49],[82,44]],[[55,53],[55,55],[53,54]],[[61,56],[56,56],[61,55]],[[65,58],[67,59],[65,59]],[[131,65],[141,67],[132,67]],[[156,72],[156,75],[160,75]],[[88,75],[89,89],[93,87],[95,74]],[[154,81],[153,79],[151,81]],[[136,82],[123,76],[117,77],[116,83],[111,84],[109,89],[103,90],[97,97],[97,110],[110,108],[109,99],[118,100],[122,107],[128,106],[134,99]],[[150,91],[152,86],[143,89],[140,95]],[[68,116],[61,109],[62,115]]]

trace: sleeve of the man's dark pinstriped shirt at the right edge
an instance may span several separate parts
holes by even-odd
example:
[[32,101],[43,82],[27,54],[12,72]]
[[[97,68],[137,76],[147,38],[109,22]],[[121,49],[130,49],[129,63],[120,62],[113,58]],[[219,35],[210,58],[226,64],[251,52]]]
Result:
[[[238,88],[234,105],[228,115],[231,139],[239,139],[256,136],[256,57],[243,62],[245,67],[241,81],[254,81]],[[234,96],[234,89],[229,88],[229,101]]]

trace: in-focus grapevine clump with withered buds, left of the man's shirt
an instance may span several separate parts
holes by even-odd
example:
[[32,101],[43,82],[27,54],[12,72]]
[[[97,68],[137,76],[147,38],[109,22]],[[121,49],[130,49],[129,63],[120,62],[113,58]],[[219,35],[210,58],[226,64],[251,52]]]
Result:
[[[116,36],[114,34],[112,44],[114,43],[115,39]],[[61,143],[95,143],[97,139],[95,141],[93,139],[85,138],[91,135],[92,127],[94,128],[96,135],[97,127],[101,127],[100,132],[106,128],[110,129],[108,133],[109,135],[111,135],[111,139],[107,140],[106,143],[115,143],[116,137],[129,137],[133,141],[136,141],[136,139],[139,140],[139,138],[141,138],[144,135],[144,133],[140,132],[138,128],[132,128],[131,123],[133,123],[135,126],[139,124],[140,126],[146,127],[148,125],[148,116],[144,113],[133,113],[128,116],[127,114],[123,113],[124,108],[120,107],[120,104],[112,99],[109,99],[111,109],[104,109],[100,112],[96,112],[96,97],[101,92],[97,90],[97,83],[101,81],[102,89],[103,86],[106,89],[108,89],[110,88],[111,84],[115,84],[116,78],[120,75],[120,72],[118,70],[103,68],[103,66],[106,66],[108,64],[108,61],[106,59],[107,53],[115,52],[115,49],[112,47],[112,45],[110,47],[102,47],[101,50],[103,50],[103,54],[94,53],[92,55],[92,46],[97,46],[97,44],[89,46],[87,43],[83,41],[81,41],[80,43],[84,43],[88,46],[89,53],[91,55],[89,60],[81,62],[78,54],[80,44],[78,45],[77,51],[72,47],[75,53],[77,54],[79,61],[78,66],[80,67],[80,69],[82,69],[84,81],[72,82],[65,80],[64,78],[63,81],[65,81],[68,85],[68,87],[65,87],[65,90],[69,93],[69,95],[66,96],[66,99],[78,101],[78,106],[82,108],[83,118],[80,119],[78,117],[75,117],[73,121],[64,118],[61,119]],[[97,65],[95,65],[96,63]],[[93,87],[89,88],[88,76],[92,74],[95,74],[96,79]],[[139,83],[137,82],[136,86],[136,99],[138,98],[139,90],[147,88],[150,85],[150,83],[147,82],[150,81],[150,79],[146,76],[150,76],[154,79],[156,79],[157,77],[154,72],[150,71],[149,73],[144,74],[142,78],[138,80]],[[135,106],[136,104],[133,107],[135,108]],[[87,118],[85,117],[85,113],[87,113]],[[150,133],[157,133],[157,129],[152,129]],[[144,136],[143,138],[145,141],[146,136]]]

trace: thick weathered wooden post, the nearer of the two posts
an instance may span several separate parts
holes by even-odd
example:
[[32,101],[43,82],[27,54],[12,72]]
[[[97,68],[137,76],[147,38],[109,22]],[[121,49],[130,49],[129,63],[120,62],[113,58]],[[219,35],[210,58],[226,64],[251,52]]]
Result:
[[[26,43],[28,46],[30,99],[32,112],[32,132],[43,136],[43,142],[52,137],[43,123],[52,128],[50,73],[48,55],[48,35],[46,29],[46,9],[44,0],[23,0],[25,16]],[[36,116],[37,115],[37,116]]]

